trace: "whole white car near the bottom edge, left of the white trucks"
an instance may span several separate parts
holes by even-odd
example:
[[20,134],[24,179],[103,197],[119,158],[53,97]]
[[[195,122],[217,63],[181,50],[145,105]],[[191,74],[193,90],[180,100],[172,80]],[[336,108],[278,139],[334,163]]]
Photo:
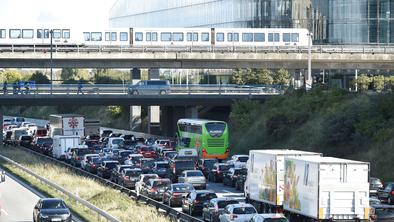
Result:
[[230,204],[219,216],[220,222],[247,222],[257,214],[256,208],[251,204]]

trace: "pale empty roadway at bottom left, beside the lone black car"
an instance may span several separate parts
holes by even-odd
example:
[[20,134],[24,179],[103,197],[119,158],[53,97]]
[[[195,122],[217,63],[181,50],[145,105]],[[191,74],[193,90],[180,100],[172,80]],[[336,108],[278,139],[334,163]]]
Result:
[[33,208],[39,199],[40,194],[7,175],[6,181],[0,184],[0,221],[33,221]]

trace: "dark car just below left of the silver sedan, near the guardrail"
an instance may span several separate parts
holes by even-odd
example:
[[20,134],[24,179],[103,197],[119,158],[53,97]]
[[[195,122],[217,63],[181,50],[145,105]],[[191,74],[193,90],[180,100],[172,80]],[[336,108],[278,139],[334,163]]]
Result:
[[183,197],[192,191],[194,191],[194,187],[190,183],[173,183],[163,193],[163,203],[170,207],[180,206]]

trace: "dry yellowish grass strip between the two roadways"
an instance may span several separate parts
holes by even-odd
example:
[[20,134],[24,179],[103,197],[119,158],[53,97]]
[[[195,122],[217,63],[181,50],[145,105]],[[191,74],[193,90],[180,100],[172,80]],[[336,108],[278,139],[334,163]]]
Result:
[[[89,201],[121,221],[170,221],[169,218],[159,214],[153,207],[140,204],[117,190],[105,187],[92,179],[79,176],[39,156],[31,155],[26,153],[26,151],[16,148],[3,147],[0,147],[0,154],[28,167],[38,175],[62,186],[66,190]],[[40,183],[37,179],[17,169],[13,165],[3,161],[0,161],[0,165],[16,176],[23,178],[28,184],[48,196],[63,198],[72,210],[86,221],[99,221],[97,214],[85,209],[74,201],[68,200],[65,196]]]

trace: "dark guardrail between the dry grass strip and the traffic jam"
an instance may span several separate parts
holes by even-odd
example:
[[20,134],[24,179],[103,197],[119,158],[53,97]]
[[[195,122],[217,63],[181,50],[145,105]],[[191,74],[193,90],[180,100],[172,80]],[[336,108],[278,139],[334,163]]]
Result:
[[58,165],[60,165],[62,167],[66,167],[66,168],[70,169],[71,171],[74,171],[78,175],[89,177],[89,178],[91,178],[91,179],[93,179],[93,180],[95,180],[95,181],[97,181],[97,182],[99,182],[101,184],[104,184],[106,186],[110,186],[113,189],[117,189],[117,190],[121,191],[122,193],[127,194],[130,198],[132,198],[134,200],[137,200],[137,201],[142,201],[143,203],[145,203],[147,205],[155,207],[157,210],[159,210],[159,209],[163,210],[164,213],[167,216],[169,216],[169,217],[171,217],[173,219],[176,219],[177,221],[180,221],[180,222],[203,222],[202,220],[200,220],[200,219],[198,219],[196,217],[190,216],[190,215],[185,214],[183,212],[179,212],[179,211],[175,210],[174,208],[171,208],[168,205],[165,205],[165,204],[163,204],[161,202],[153,200],[153,199],[151,199],[149,197],[146,197],[144,195],[137,196],[137,193],[135,191],[130,190],[130,189],[125,188],[125,187],[122,187],[122,186],[120,186],[120,185],[118,185],[116,183],[113,183],[113,182],[109,181],[109,180],[103,179],[103,178],[101,178],[101,177],[99,177],[99,176],[97,176],[95,174],[92,174],[92,173],[84,171],[84,170],[82,170],[80,168],[71,166],[69,164],[66,164],[65,162],[56,160],[56,159],[54,159],[52,157],[45,156],[45,155],[43,155],[41,153],[38,153],[36,151],[30,150],[30,149],[27,149],[27,148],[23,148],[23,147],[19,147],[19,148],[23,149],[23,150],[26,150],[27,152],[34,153],[35,155],[39,155],[40,157],[45,158],[45,159],[47,159],[47,160],[49,160],[49,161],[51,161],[51,162],[53,162],[55,164],[58,164]]

